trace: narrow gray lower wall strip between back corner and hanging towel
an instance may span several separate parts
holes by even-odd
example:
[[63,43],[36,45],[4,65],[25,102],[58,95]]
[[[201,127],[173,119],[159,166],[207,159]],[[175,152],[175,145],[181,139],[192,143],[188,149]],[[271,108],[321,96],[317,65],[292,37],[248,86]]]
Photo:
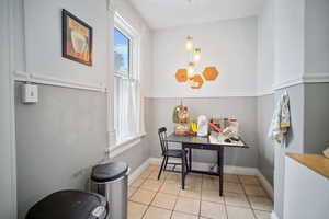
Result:
[[268,132],[274,111],[274,95],[259,96],[257,107],[257,137],[259,146],[258,166],[261,173],[273,185],[274,146],[273,141],[268,137]]

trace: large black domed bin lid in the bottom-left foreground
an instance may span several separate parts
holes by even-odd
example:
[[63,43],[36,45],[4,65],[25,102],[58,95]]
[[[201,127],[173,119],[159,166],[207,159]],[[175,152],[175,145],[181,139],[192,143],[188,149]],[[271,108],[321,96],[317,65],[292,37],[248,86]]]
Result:
[[104,219],[106,208],[105,197],[99,194],[59,191],[36,203],[25,219]]

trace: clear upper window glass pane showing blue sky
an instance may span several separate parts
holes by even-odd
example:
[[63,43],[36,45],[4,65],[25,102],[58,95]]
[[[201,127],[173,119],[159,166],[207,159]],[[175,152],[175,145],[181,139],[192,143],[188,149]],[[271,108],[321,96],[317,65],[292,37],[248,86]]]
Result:
[[129,76],[129,38],[114,28],[114,70],[115,73]]

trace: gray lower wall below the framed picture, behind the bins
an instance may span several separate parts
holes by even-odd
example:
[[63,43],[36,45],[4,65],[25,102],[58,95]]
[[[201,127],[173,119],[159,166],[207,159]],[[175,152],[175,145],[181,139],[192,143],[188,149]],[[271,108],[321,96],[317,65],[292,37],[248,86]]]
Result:
[[15,88],[19,218],[58,189],[84,189],[90,168],[104,158],[104,93],[39,85],[39,102],[24,105]]

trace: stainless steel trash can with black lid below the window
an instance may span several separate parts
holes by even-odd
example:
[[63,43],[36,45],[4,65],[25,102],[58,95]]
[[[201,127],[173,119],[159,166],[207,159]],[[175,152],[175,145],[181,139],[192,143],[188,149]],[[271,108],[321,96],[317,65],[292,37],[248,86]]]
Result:
[[92,169],[92,192],[106,197],[109,219],[127,219],[128,173],[129,168],[124,162],[109,162]]

